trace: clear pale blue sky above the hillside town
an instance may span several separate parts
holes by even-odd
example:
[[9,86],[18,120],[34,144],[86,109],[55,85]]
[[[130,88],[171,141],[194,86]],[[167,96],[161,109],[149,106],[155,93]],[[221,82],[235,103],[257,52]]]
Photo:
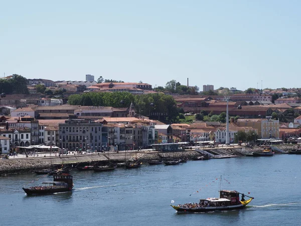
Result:
[[301,1],[2,1],[0,77],[300,87]]

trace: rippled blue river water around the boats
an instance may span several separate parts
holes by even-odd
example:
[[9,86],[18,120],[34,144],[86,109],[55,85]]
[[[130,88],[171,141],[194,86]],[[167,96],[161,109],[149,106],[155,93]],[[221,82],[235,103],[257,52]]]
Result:
[[[0,178],[0,225],[301,225],[301,156],[242,157],[143,165],[112,172],[72,170],[73,192],[27,196],[23,184],[51,176]],[[176,213],[171,206],[218,197],[222,188],[255,197],[242,210]]]

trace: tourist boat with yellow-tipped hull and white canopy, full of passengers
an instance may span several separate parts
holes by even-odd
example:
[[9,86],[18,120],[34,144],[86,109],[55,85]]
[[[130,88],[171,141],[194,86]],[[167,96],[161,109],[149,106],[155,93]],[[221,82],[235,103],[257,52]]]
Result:
[[[171,205],[177,212],[211,212],[216,210],[228,211],[233,209],[244,208],[249,204],[253,197],[242,194],[238,191],[220,190],[219,198],[205,198],[200,199],[198,203],[187,203],[179,205]],[[239,200],[241,194],[241,200]],[[244,197],[250,199],[245,200]]]

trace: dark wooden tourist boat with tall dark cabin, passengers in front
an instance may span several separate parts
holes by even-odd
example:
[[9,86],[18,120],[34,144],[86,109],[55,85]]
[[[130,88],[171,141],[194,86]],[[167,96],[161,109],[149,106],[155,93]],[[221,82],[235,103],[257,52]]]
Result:
[[23,187],[28,195],[51,194],[57,192],[71,191],[74,184],[72,175],[69,173],[61,173],[53,175],[53,182],[43,182],[41,186]]

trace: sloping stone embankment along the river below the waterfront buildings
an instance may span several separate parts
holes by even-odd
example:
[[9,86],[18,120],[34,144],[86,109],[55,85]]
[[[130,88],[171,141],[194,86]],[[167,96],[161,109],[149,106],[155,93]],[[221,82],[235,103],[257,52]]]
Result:
[[[288,151],[292,148],[296,148],[296,145],[279,145],[277,149]],[[201,149],[201,148],[200,148]],[[223,148],[203,148],[201,149],[210,153],[212,158],[230,158],[245,156],[253,151],[262,150],[262,147],[238,147],[228,146]],[[281,152],[275,151],[280,154]],[[55,156],[55,157],[39,157],[39,158],[19,158],[0,160],[0,176],[15,173],[28,173],[34,172],[39,169],[60,168],[64,163],[66,167],[76,167],[77,165],[85,164],[106,164],[108,161],[115,163],[134,160],[136,157],[140,161],[147,163],[152,160],[159,160],[162,158],[185,158],[193,160],[203,154],[189,149],[185,151],[177,152],[154,152],[154,151],[126,151],[126,152],[110,152],[110,153],[94,153],[94,154],[82,154],[82,155],[67,155],[67,156]]]

